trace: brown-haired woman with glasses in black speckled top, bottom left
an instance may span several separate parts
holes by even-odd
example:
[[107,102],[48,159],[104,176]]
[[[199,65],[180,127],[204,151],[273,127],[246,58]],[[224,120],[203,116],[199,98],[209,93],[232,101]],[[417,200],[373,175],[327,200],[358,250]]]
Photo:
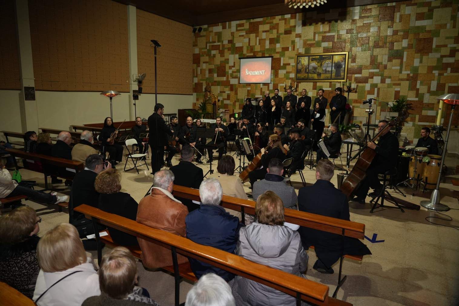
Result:
[[40,271],[36,256],[40,221],[35,210],[28,206],[0,217],[0,281],[29,298],[34,295]]

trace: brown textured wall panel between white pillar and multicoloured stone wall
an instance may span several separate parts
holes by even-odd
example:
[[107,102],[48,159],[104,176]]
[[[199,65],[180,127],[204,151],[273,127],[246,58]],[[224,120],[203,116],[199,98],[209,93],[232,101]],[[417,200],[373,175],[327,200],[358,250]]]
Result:
[[193,94],[192,78],[192,28],[183,23],[137,10],[137,61],[139,73],[146,72],[144,93],[155,92],[154,48],[155,39],[161,47],[157,50],[158,93]]

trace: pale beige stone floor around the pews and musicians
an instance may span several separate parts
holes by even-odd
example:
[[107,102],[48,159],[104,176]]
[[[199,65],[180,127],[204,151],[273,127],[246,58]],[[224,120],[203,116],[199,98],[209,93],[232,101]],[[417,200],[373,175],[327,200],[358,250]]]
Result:
[[[178,163],[174,157],[173,164]],[[337,165],[340,161],[336,161]],[[459,160],[447,158],[445,162],[454,169]],[[237,162],[239,164],[239,162]],[[128,192],[140,201],[152,184],[150,171],[142,170],[139,174],[132,170],[123,172],[124,165],[118,166],[122,173],[122,191]],[[207,172],[208,165],[198,165]],[[216,162],[213,163],[214,169]],[[336,170],[336,173],[340,171]],[[21,170],[24,179],[34,179],[43,186],[43,177],[36,172]],[[307,184],[315,182],[313,170],[305,170]],[[447,177],[446,182],[450,182]],[[457,177],[457,176],[456,176]],[[292,176],[292,182],[298,190],[302,187],[298,174]],[[332,179],[336,185],[336,176]],[[248,183],[245,185],[246,192]],[[403,191],[408,191],[403,189]],[[68,194],[68,191],[64,192]],[[440,185],[442,203],[451,210],[446,214],[452,221],[433,219],[436,223],[459,228],[459,186],[442,183]],[[398,195],[401,197],[401,195]],[[407,195],[406,200],[419,204],[420,200],[429,199],[430,192]],[[367,198],[367,201],[369,198]],[[66,212],[57,212],[50,208],[26,201],[26,204],[37,209],[43,221],[40,223],[40,235],[58,223],[67,222]],[[362,262],[346,259],[343,273],[347,280],[338,291],[338,299],[346,300],[353,305],[459,305],[459,231],[440,225],[428,223],[425,217],[440,216],[421,207],[420,211],[397,209],[377,209],[369,213],[370,204],[349,204],[351,220],[365,224],[365,235],[384,242],[370,243],[365,239],[373,253],[364,256]],[[106,249],[105,249],[106,250]],[[94,254],[95,255],[95,254]],[[330,286],[330,295],[336,288],[339,263],[334,266],[335,274],[320,274],[312,269],[316,260],[313,250],[308,250],[309,269],[307,276],[316,282]],[[140,285],[146,287],[151,296],[161,305],[174,305],[174,278],[166,273],[146,271],[139,263]],[[181,302],[191,284],[182,282],[180,286]]]

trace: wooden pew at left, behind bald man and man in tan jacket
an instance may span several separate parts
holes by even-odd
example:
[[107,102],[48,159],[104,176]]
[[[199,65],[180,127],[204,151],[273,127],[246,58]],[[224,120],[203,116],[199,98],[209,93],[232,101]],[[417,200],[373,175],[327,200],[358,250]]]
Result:
[[[82,163],[81,161],[71,161],[65,158],[58,158],[58,157],[53,157],[53,156],[48,156],[48,155],[29,153],[29,152],[16,150],[16,149],[6,149],[6,151],[10,153],[11,156],[13,157],[24,158],[26,160],[30,160],[34,162],[37,162],[37,161],[40,162],[42,165],[41,171],[38,169],[28,168],[27,167],[28,164],[25,164],[24,168],[35,171],[35,172],[43,173],[45,175],[45,189],[48,189],[48,176],[50,175],[56,175],[57,177],[64,178],[70,181],[73,180],[73,177],[64,177],[60,175],[59,172],[54,172],[53,170],[49,170],[51,167],[46,167],[46,166],[62,167],[66,169],[71,169],[75,173],[84,169],[84,163]],[[14,162],[15,162],[16,169],[19,170],[19,167],[17,166],[16,158],[14,158]]]

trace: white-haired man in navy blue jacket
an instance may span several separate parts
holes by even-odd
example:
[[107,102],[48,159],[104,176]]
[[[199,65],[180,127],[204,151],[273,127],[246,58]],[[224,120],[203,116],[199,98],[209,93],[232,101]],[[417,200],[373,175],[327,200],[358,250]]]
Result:
[[[242,224],[239,223],[238,217],[231,216],[220,206],[222,195],[222,186],[216,178],[202,181],[199,187],[202,204],[199,209],[191,211],[186,216],[186,237],[200,245],[213,246],[234,253]],[[196,278],[201,278],[209,272],[217,274],[227,282],[234,278],[234,274],[208,263],[193,258],[189,260]]]

